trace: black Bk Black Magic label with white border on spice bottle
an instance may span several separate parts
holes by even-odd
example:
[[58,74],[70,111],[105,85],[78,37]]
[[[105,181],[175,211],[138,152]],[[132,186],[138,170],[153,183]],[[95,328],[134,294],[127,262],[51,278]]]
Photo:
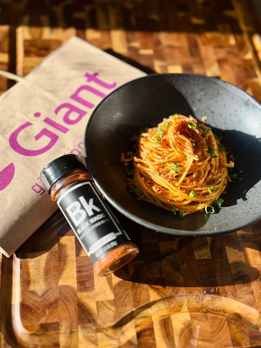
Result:
[[89,181],[72,184],[56,203],[93,264],[129,241]]

